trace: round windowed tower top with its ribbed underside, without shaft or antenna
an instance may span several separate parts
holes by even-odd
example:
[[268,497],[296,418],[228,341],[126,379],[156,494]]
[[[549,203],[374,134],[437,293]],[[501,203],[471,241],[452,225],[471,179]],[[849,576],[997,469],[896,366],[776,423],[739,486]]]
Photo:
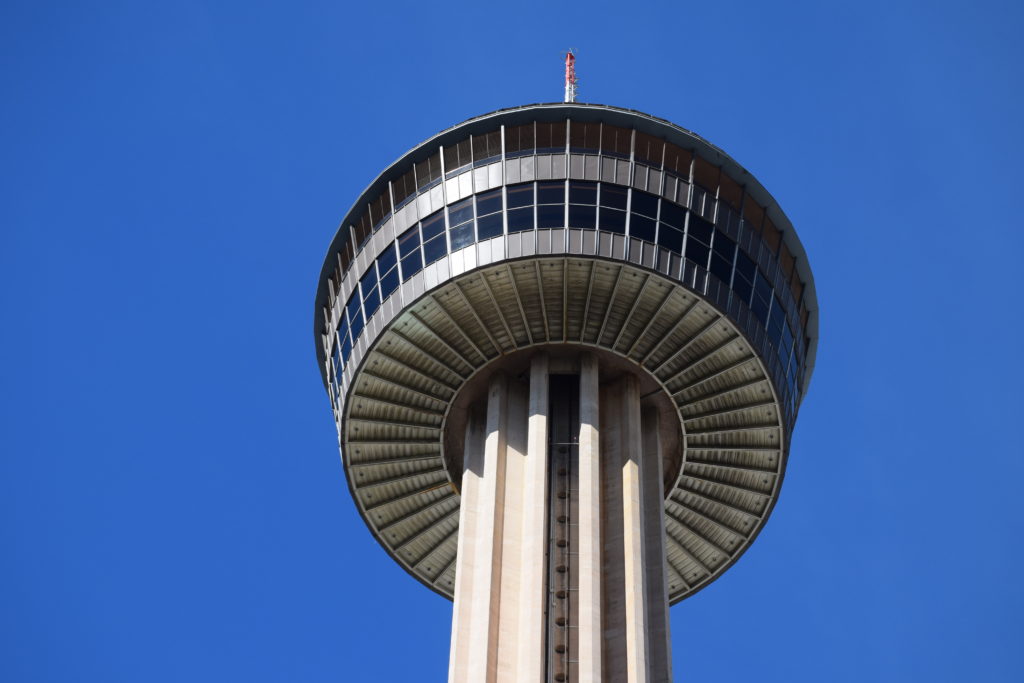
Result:
[[806,254],[754,176],[667,121],[583,103],[502,110],[403,155],[342,220],[314,311],[356,506],[449,598],[464,435],[496,373],[543,353],[552,377],[633,378],[659,416],[674,603],[768,518],[817,344]]

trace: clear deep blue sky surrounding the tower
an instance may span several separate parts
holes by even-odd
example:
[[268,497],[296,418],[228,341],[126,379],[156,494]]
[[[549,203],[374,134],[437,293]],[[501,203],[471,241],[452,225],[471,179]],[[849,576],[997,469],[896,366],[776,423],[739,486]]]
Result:
[[441,681],[451,604],[349,499],[338,221],[495,109],[670,119],[800,231],[821,341],[677,679],[1024,680],[1019,2],[3,3],[0,680]]

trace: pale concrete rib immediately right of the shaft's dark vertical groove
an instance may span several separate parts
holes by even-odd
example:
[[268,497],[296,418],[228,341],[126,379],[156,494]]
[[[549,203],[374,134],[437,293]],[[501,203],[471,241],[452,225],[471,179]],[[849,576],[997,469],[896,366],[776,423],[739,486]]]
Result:
[[601,605],[601,455],[597,356],[580,362],[579,464],[579,672],[581,681],[600,683]]

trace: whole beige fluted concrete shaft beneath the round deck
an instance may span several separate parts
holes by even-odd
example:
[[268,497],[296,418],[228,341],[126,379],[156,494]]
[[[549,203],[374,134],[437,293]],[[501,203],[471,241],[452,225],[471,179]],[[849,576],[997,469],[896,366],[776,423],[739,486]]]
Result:
[[473,401],[453,683],[671,680],[662,410],[603,370],[541,350]]

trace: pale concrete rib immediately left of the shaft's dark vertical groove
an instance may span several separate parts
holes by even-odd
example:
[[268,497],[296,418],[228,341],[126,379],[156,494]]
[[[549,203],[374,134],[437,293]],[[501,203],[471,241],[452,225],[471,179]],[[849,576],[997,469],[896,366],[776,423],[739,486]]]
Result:
[[521,486],[522,544],[518,677],[515,681],[540,681],[544,675],[544,585],[545,552],[548,545],[548,398],[549,361],[538,353],[529,366],[529,417],[526,427],[526,459]]

